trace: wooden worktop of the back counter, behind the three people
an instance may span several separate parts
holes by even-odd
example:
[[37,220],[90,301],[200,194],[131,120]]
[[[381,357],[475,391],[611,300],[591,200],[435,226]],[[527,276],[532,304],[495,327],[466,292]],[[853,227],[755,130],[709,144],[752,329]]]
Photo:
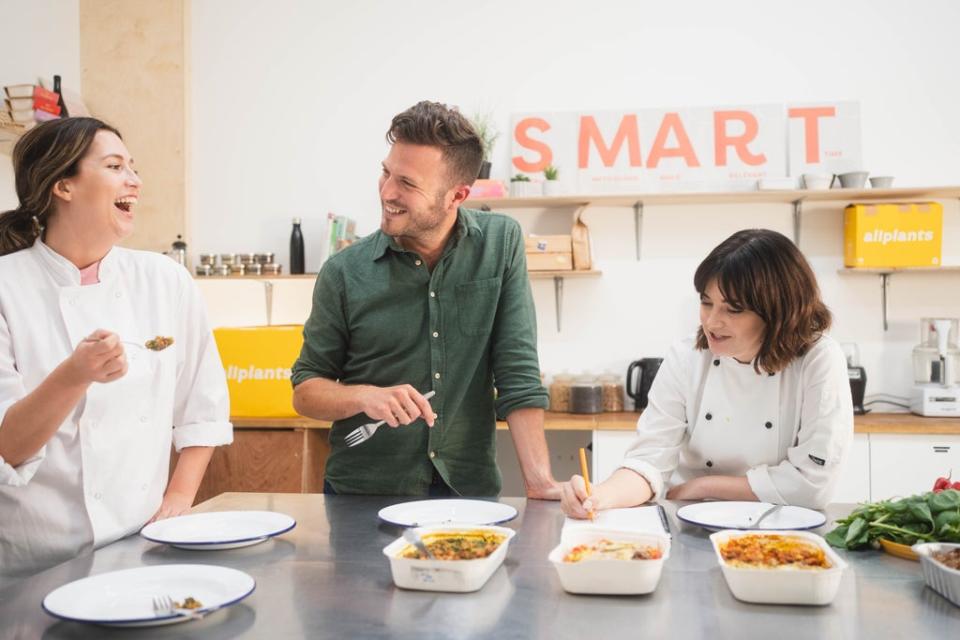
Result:
[[[597,413],[591,415],[548,411],[544,427],[547,431],[632,431],[639,413]],[[330,422],[310,418],[232,418],[238,429],[329,429]],[[960,435],[960,418],[924,418],[912,413],[868,413],[853,419],[855,433],[903,433]],[[498,422],[506,429],[506,422]]]

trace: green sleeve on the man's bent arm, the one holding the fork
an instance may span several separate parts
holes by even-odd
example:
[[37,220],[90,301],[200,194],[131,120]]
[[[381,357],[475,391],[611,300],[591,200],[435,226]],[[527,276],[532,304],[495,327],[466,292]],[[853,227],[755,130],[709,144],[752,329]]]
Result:
[[310,378],[340,380],[343,377],[349,345],[343,292],[339,264],[328,260],[313,287],[310,317],[303,326],[303,347],[293,364],[294,387]]

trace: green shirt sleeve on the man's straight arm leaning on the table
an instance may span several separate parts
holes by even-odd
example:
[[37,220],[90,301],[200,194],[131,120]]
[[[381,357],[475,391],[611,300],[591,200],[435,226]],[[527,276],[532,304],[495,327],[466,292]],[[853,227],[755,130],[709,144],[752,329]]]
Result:
[[547,390],[540,381],[537,316],[520,226],[514,223],[506,238],[509,257],[491,334],[496,410],[500,419],[517,409],[546,409],[550,404]]

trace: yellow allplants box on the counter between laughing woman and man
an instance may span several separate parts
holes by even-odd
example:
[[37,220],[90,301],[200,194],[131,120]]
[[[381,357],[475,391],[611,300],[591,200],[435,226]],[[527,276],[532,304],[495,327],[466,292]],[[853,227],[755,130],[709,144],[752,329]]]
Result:
[[230,390],[230,414],[294,417],[291,368],[303,346],[303,325],[213,330]]

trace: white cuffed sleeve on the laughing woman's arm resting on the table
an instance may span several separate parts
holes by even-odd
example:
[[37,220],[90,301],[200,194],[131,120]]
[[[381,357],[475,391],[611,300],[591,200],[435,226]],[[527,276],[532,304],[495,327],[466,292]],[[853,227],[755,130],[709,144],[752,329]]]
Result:
[[230,444],[230,396],[217,343],[200,291],[185,271],[181,286],[183,348],[178,351],[173,444],[177,451]]

